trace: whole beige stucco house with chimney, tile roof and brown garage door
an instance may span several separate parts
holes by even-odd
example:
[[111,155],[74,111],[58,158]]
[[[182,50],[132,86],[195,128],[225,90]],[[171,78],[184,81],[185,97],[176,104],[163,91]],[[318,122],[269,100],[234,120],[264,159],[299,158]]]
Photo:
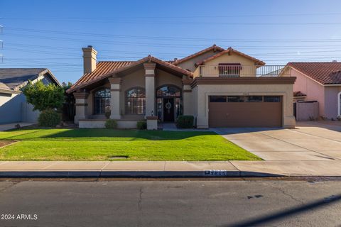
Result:
[[273,75],[284,66],[217,45],[172,61],[148,55],[97,62],[92,46],[82,50],[84,74],[67,90],[75,96],[80,128],[104,127],[105,109],[119,128],[136,128],[146,118],[174,122],[180,115],[194,116],[197,128],[295,126],[295,78]]

